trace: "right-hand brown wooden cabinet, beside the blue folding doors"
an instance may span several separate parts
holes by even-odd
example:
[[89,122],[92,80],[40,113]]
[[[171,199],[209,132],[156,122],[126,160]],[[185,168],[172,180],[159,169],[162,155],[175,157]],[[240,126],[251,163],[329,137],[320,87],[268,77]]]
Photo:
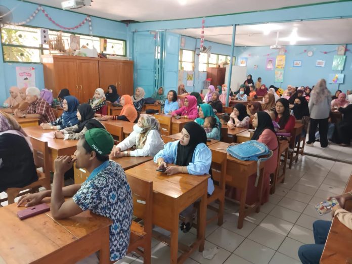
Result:
[[104,91],[113,84],[120,96],[133,95],[133,61],[100,59],[99,79]]

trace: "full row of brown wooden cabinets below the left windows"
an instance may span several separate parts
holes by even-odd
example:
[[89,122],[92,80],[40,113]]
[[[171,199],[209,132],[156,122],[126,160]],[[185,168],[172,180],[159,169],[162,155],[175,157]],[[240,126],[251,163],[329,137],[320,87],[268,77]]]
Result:
[[86,103],[101,87],[117,87],[119,95],[133,94],[133,61],[99,59],[90,57],[43,55],[44,81],[56,98],[67,88],[80,103]]

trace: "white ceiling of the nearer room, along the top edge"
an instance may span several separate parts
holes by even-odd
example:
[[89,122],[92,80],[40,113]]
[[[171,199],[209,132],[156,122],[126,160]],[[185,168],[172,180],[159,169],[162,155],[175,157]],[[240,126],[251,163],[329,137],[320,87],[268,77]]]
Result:
[[[63,0],[30,2],[61,8]],[[140,22],[194,18],[213,15],[278,9],[290,6],[331,2],[331,0],[93,0],[92,6],[75,12],[112,20]],[[339,2],[339,1],[336,1]]]

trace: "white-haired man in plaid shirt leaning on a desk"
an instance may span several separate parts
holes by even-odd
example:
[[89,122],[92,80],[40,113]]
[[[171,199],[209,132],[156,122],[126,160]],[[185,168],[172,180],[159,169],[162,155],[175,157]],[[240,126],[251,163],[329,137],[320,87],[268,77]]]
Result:
[[39,118],[40,123],[50,123],[56,120],[53,109],[47,101],[40,98],[40,91],[37,87],[28,87],[26,95],[29,106],[24,112],[16,109],[14,113],[18,117]]

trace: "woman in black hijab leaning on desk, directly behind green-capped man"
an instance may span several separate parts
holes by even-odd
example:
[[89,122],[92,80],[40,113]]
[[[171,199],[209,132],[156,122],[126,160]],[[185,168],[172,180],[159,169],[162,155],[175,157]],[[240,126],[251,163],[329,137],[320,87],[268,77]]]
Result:
[[97,119],[94,118],[94,110],[89,104],[81,104],[77,107],[77,118],[79,120],[78,124],[55,132],[55,138],[64,140],[79,140],[89,129],[105,128]]

